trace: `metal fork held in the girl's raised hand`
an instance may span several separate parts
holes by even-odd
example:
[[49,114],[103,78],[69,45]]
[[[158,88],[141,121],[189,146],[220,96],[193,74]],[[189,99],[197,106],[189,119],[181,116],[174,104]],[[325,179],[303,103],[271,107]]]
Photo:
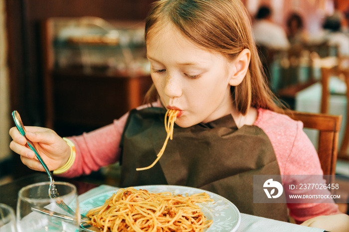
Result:
[[[39,155],[38,151],[34,147],[34,144],[25,136],[24,125],[23,125],[23,122],[20,119],[20,116],[19,116],[17,111],[13,111],[12,112],[12,118],[13,118],[13,121],[16,124],[16,127],[19,130],[20,134],[24,136],[24,138],[26,139],[26,142],[28,143],[28,146],[35,153],[37,159],[40,161],[40,163],[44,167],[44,169],[45,169],[45,171],[46,171],[46,173],[48,175],[48,178],[50,179],[50,187],[48,189],[48,196],[51,199],[55,199],[56,205],[59,206],[61,209],[63,209],[65,212],[68,212],[71,215],[75,215],[75,212],[69,206],[67,206],[67,204],[65,204],[63,200],[61,200],[59,198],[59,194],[58,194],[57,188],[56,188],[56,186],[53,183],[54,182],[53,176],[52,176],[50,170],[47,168],[47,165],[45,164],[45,162],[43,161],[43,159]],[[84,215],[81,215],[81,218],[84,219],[84,220],[89,220],[89,218],[87,218]]]

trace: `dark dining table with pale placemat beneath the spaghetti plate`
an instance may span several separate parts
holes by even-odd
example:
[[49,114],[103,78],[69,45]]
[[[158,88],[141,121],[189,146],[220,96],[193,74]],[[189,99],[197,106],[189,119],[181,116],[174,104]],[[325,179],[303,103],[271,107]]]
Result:
[[[14,210],[17,204],[18,191],[32,183],[47,181],[47,175],[44,173],[35,173],[14,180],[11,183],[0,186],[0,203],[11,206]],[[66,179],[55,177],[55,181],[66,181],[76,185],[79,201],[86,200],[92,196],[95,196],[106,191],[115,190],[115,186],[110,185],[96,185],[92,183],[85,183],[75,179]],[[237,232],[324,232],[324,230],[317,228],[303,227],[291,223],[280,222],[272,219],[266,219],[262,217],[256,217],[247,214],[241,214],[241,223]]]

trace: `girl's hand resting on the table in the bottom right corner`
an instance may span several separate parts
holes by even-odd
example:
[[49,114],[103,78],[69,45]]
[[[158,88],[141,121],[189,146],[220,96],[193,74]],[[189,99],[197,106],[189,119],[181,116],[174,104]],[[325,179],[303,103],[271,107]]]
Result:
[[320,228],[331,232],[348,232],[349,216],[346,214],[319,216],[309,219],[301,225]]

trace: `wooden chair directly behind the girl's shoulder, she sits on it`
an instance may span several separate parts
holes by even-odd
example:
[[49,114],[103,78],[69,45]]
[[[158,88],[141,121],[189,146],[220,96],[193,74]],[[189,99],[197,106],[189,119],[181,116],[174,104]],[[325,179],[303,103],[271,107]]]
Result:
[[312,114],[296,111],[285,113],[294,120],[303,122],[304,128],[319,130],[318,155],[324,175],[333,175],[327,178],[327,183],[334,183],[338,152],[338,137],[341,128],[342,116]]

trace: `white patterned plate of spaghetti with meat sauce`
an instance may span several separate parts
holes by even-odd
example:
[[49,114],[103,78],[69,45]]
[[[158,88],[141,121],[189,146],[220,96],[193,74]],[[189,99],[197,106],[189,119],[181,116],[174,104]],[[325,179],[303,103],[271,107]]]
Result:
[[241,218],[227,199],[175,185],[116,189],[79,205],[87,223],[103,232],[234,232]]

